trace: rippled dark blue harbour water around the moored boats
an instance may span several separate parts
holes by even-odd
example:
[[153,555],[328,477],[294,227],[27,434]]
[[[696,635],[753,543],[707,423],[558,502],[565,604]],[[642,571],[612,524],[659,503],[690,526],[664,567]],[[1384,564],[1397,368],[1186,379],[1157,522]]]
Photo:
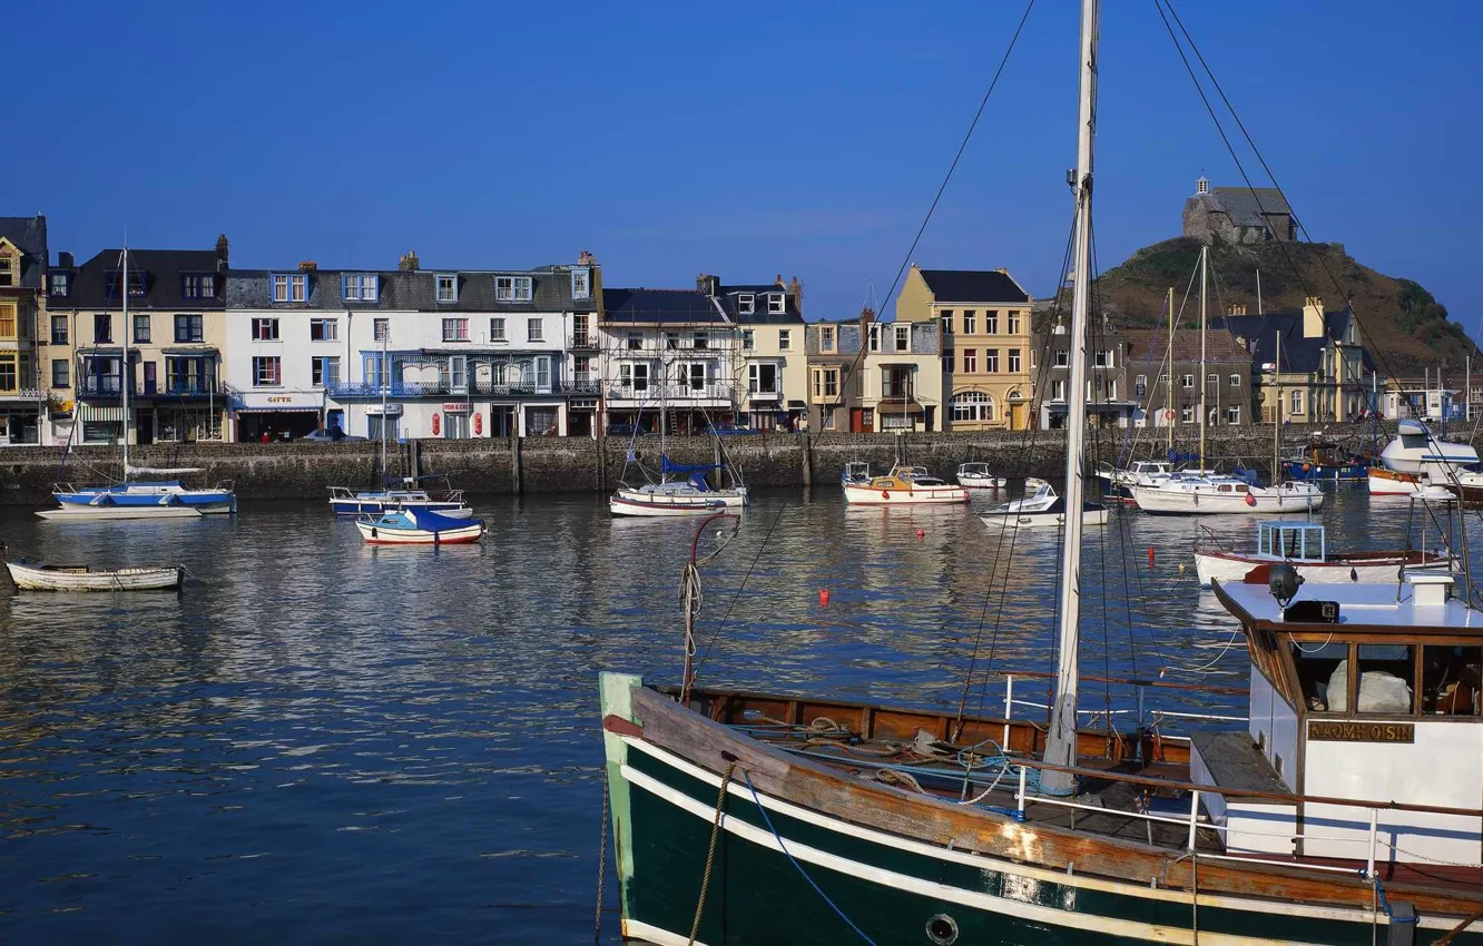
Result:
[[[1404,503],[1333,500],[1336,546],[1404,532]],[[596,675],[678,676],[693,523],[586,495],[479,513],[480,546],[439,552],[366,549],[323,503],[0,513],[12,558],[191,572],[179,596],[0,593],[0,940],[589,942]],[[1195,528],[1089,531],[1084,672],[1244,684],[1231,623],[1178,569]],[[706,569],[701,682],[955,706],[976,646],[1047,669],[1056,553],[962,509],[764,495]]]

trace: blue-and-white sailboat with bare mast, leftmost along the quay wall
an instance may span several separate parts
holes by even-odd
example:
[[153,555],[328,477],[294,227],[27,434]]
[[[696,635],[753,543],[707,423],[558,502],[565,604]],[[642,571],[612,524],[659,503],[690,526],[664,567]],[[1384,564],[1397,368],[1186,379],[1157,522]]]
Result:
[[[129,326],[129,248],[122,255],[123,277],[119,283],[123,297],[123,325]],[[178,479],[138,480],[132,476],[184,476],[200,473],[197,467],[159,469],[133,467],[129,464],[129,388],[133,386],[133,371],[129,365],[129,345],[120,353],[119,397],[123,408],[123,482],[107,486],[73,486],[58,483],[52,498],[58,509],[36,513],[43,519],[98,520],[98,519],[168,519],[196,517],[208,513],[236,513],[237,495],[230,485],[212,489],[188,489]]]

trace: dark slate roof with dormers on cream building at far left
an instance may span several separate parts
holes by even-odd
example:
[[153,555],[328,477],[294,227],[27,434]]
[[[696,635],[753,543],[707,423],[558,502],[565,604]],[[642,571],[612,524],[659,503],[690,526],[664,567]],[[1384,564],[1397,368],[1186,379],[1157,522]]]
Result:
[[[122,297],[107,294],[107,277],[122,270],[123,251],[105,249],[79,267],[50,267],[53,273],[71,273],[67,297],[53,297],[49,308],[122,308]],[[224,308],[222,271],[217,268],[214,249],[131,249],[129,274],[144,273],[144,295],[129,297],[129,308],[163,308],[202,311]],[[181,277],[188,273],[217,273],[215,298],[185,298]]]

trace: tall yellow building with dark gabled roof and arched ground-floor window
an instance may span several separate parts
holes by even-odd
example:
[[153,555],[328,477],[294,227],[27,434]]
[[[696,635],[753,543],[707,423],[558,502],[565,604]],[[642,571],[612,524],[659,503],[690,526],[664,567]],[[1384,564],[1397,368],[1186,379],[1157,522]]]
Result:
[[940,329],[943,427],[1029,427],[1029,294],[1007,270],[911,268],[896,300],[896,320]]

